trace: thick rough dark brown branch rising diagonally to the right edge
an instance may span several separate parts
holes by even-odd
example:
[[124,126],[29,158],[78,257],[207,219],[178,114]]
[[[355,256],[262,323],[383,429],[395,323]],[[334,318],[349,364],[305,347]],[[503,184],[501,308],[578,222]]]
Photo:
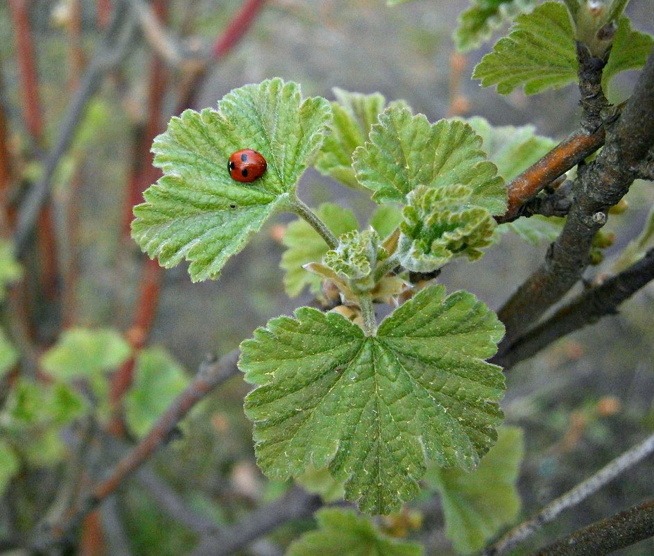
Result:
[[654,144],[654,51],[621,116],[607,125],[606,134],[601,153],[590,164],[578,167],[575,202],[561,235],[551,244],[541,267],[498,312],[506,326],[499,357],[579,280],[608,209],[628,192],[640,162]]

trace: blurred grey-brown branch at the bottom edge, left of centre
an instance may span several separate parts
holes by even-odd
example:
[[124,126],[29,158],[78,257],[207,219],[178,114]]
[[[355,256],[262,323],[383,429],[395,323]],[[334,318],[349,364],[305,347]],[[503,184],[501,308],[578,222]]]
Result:
[[207,535],[189,556],[229,556],[284,523],[311,516],[321,505],[320,497],[293,487],[279,500],[259,507],[229,529]]

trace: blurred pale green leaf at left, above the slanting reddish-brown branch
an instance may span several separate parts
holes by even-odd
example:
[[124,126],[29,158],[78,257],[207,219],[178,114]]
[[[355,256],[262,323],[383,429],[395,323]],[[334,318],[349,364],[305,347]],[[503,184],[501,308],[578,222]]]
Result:
[[58,380],[95,378],[120,367],[130,353],[130,345],[117,330],[71,328],[44,353],[41,364]]

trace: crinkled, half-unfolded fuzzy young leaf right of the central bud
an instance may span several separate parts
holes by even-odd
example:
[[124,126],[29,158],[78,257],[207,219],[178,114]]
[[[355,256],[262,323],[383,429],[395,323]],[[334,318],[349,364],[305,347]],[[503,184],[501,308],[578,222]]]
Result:
[[471,194],[466,185],[420,186],[408,194],[397,246],[404,268],[430,272],[455,255],[483,255],[497,224],[488,210],[470,205]]

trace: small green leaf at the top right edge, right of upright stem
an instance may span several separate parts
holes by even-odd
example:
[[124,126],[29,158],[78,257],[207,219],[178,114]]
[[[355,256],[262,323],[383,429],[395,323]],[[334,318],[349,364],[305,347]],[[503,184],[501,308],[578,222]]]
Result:
[[602,71],[602,89],[607,91],[612,78],[621,71],[643,67],[653,45],[654,38],[651,35],[634,31],[629,18],[621,17],[613,37],[609,60]]

